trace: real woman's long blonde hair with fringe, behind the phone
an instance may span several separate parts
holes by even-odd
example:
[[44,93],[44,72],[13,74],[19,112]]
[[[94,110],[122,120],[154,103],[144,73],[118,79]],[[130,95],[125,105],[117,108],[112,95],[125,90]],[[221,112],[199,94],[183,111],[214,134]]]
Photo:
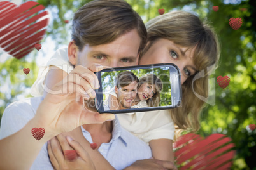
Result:
[[[200,128],[199,113],[204,101],[194,92],[204,97],[208,96],[209,67],[217,65],[220,56],[218,38],[210,25],[202,23],[196,15],[185,11],[173,11],[157,16],[145,25],[148,31],[148,44],[143,53],[160,38],[183,47],[196,48],[193,60],[197,72],[188,77],[182,85],[181,106],[170,112],[178,128],[197,131]],[[193,82],[194,76],[201,70],[204,70],[206,76]]]

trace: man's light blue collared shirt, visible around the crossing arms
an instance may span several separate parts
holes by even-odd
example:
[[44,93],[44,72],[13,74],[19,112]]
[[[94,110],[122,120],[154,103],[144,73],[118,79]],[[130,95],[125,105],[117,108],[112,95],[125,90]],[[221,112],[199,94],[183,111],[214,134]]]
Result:
[[[1,120],[0,139],[10,136],[22,129],[34,117],[43,97],[27,98],[11,103],[5,110]],[[90,142],[90,133],[82,128],[83,136]],[[32,135],[32,134],[31,134]],[[140,159],[152,157],[150,147],[120,126],[117,119],[113,120],[112,139],[109,143],[102,143],[98,151],[115,167],[124,169]],[[11,159],[11,158],[10,158]],[[53,169],[47,152],[47,143],[43,145],[31,169]]]

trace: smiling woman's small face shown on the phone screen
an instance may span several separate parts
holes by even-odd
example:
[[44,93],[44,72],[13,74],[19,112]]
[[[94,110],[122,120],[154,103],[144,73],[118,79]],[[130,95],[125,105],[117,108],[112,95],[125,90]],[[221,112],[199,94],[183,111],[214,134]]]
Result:
[[149,98],[152,98],[154,94],[155,94],[155,85],[150,85],[146,82],[141,84],[141,86],[138,89],[139,100],[148,100]]

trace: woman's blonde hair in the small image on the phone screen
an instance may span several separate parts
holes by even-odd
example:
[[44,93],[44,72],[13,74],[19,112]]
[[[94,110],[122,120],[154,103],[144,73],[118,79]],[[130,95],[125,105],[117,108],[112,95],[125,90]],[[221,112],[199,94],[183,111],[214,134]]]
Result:
[[157,75],[155,74],[145,74],[141,77],[139,77],[139,84],[137,86],[137,89],[141,87],[143,83],[148,83],[150,85],[155,85],[155,93],[151,98],[148,98],[146,100],[146,103],[149,107],[157,107],[159,106],[159,102],[161,100],[160,98],[160,92],[162,91],[162,81]]

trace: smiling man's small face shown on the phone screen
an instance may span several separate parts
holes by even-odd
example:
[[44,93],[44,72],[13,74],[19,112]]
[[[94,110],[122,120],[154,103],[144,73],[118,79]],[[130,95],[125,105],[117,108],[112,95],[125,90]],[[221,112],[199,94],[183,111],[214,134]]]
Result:
[[120,103],[120,109],[128,109],[137,96],[137,82],[133,81],[128,86],[115,86],[115,93],[117,93],[117,100]]

